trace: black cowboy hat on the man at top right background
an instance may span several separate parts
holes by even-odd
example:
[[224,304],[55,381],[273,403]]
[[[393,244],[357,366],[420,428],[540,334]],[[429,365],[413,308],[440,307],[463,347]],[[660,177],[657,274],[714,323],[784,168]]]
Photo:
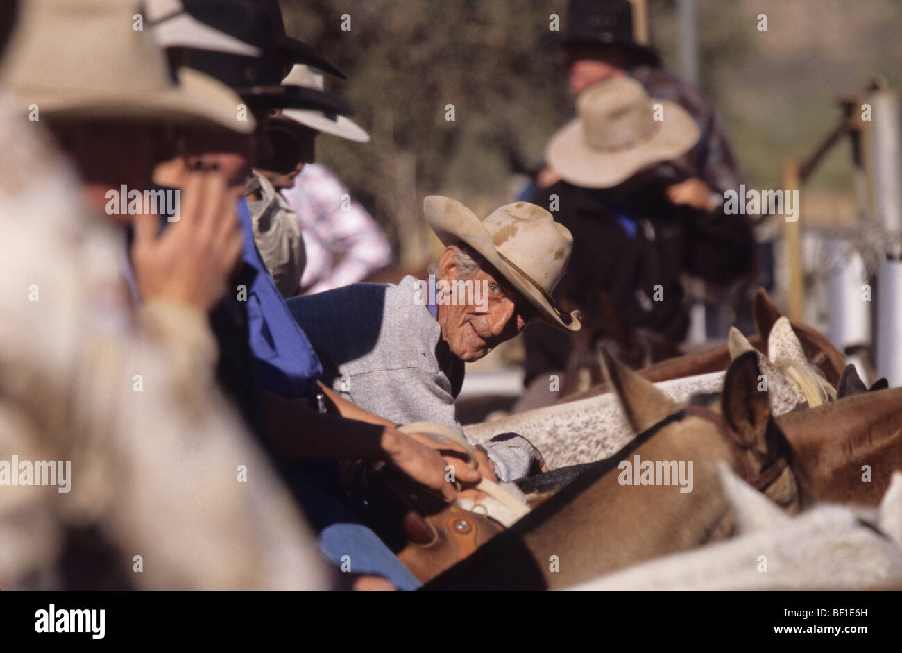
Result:
[[633,38],[630,0],[570,0],[564,31],[539,41],[544,49],[593,45],[619,45],[639,63],[661,63],[658,52]]

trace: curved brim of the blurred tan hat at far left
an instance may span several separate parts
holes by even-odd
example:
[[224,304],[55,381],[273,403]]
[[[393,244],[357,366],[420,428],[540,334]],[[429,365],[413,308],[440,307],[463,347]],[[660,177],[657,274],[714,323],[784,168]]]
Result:
[[163,122],[216,127],[235,133],[253,133],[253,115],[239,119],[241,98],[225,85],[197,70],[181,68],[179,84],[152,94],[127,96],[55,93],[32,100],[41,113],[71,119]]

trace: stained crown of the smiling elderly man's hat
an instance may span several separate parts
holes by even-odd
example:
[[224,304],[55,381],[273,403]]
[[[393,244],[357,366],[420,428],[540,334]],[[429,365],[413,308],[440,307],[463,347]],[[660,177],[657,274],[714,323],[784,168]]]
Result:
[[544,208],[515,202],[483,220],[492,244],[507,262],[549,295],[564,277],[573,236]]

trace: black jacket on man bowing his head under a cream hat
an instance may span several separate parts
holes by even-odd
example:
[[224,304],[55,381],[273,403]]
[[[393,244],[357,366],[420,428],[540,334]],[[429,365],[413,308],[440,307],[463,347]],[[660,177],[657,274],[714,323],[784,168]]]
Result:
[[[573,234],[564,279],[554,296],[567,309],[583,311],[584,329],[609,324],[604,302],[629,332],[644,327],[673,343],[686,336],[688,315],[681,274],[727,285],[752,270],[754,239],[746,216],[674,207],[654,182],[617,205],[607,190],[560,181],[530,201],[554,208],[555,219]],[[572,337],[530,325],[525,333],[527,379],[566,368]]]

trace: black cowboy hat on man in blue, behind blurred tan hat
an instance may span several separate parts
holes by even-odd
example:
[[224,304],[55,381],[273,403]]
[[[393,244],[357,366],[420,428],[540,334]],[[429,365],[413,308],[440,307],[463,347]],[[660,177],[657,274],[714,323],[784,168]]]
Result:
[[354,107],[334,93],[281,85],[273,18],[264,5],[248,0],[186,0],[185,8],[202,23],[259,48],[259,57],[226,52],[187,50],[185,65],[216,78],[259,109],[318,109],[351,115]]

